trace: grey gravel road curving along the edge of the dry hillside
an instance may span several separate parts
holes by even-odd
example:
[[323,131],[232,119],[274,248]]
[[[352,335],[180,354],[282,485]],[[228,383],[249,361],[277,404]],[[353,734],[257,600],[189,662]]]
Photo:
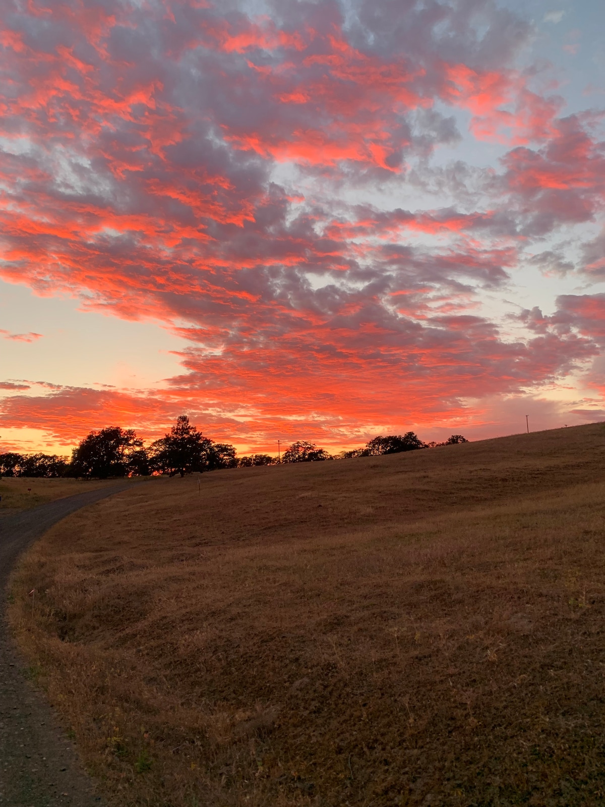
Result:
[[0,516],[0,805],[101,807],[52,706],[27,680],[6,625],[6,583],[19,554],[70,512],[131,487],[121,483]]

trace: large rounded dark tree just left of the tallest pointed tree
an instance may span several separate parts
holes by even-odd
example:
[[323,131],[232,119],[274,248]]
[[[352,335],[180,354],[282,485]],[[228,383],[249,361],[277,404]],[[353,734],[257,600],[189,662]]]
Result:
[[110,476],[128,476],[141,466],[143,441],[134,429],[109,426],[99,432],[90,432],[76,449],[73,449],[70,475],[85,479]]

